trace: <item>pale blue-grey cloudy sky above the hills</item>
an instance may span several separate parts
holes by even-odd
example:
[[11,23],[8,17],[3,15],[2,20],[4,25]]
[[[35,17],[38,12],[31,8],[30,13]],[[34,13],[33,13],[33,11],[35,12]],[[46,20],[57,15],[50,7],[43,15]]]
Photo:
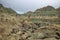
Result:
[[60,7],[60,0],[0,0],[0,3],[18,13],[35,11],[48,5],[55,8]]

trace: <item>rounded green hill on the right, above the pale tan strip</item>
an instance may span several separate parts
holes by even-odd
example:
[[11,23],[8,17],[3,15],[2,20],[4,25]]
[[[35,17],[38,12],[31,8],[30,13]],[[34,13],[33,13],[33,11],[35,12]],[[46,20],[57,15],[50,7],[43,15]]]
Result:
[[27,12],[27,13],[25,13],[25,15],[29,14],[31,16],[49,16],[49,15],[55,16],[58,12],[57,10],[59,10],[59,8],[55,9],[52,6],[47,6],[47,7],[37,9],[35,12]]

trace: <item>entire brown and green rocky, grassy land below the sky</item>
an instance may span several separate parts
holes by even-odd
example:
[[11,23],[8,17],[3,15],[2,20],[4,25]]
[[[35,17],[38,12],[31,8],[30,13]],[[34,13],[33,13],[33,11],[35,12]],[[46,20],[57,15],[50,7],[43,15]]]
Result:
[[0,4],[0,40],[60,40],[59,14],[47,6],[19,15]]

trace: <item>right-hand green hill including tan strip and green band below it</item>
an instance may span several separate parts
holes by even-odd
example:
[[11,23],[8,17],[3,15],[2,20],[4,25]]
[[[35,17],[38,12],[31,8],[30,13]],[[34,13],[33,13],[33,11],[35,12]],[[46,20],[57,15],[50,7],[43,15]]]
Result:
[[60,8],[55,9],[52,6],[46,6],[40,9],[35,10],[34,12],[27,12],[23,14],[25,17],[29,17],[33,22],[50,22],[52,23],[59,22],[58,18],[60,17]]

